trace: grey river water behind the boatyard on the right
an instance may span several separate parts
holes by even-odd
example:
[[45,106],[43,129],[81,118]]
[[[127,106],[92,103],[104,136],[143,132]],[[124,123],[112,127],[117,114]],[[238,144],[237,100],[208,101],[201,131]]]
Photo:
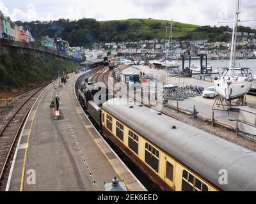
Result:
[[[229,67],[229,60],[224,59],[224,60],[208,60],[207,61],[209,64],[208,66],[212,66],[213,69],[218,68],[220,72],[222,72],[221,68],[226,68]],[[188,61],[185,62],[186,65],[188,66]],[[191,60],[191,65],[194,64],[195,66],[200,66],[200,60],[198,59],[193,59]],[[236,60],[237,66],[241,66],[244,68],[250,68],[252,69],[252,73],[256,73],[256,59],[238,59]]]

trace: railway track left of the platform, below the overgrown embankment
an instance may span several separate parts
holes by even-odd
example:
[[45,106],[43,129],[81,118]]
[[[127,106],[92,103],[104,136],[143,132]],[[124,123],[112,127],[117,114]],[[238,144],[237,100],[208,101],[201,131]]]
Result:
[[48,84],[33,90],[31,95],[26,98],[26,100],[22,101],[22,105],[15,110],[15,113],[13,113],[12,117],[6,122],[4,128],[0,132],[0,191],[5,190],[10,168],[12,166],[15,147],[17,147],[24,121],[36,99]]

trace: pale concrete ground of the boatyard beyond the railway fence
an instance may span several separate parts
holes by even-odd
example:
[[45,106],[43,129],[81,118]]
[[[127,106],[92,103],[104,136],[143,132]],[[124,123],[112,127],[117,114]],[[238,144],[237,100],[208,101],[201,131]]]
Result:
[[[142,72],[147,73],[146,75],[152,75],[154,78],[157,79],[157,82],[162,82],[163,86],[172,85],[172,87],[196,87],[200,85],[200,87],[207,87],[214,86],[213,80],[200,80],[198,78],[186,78],[186,77],[170,77],[168,71],[165,70],[157,70],[157,69],[150,69],[148,66],[136,66],[136,68],[140,69]],[[150,74],[149,74],[150,73]],[[125,89],[125,88],[124,88]],[[185,97],[180,96],[180,98],[175,98],[173,100],[168,100],[168,105],[171,105],[173,108],[177,108],[177,101],[179,104],[180,110],[184,110],[186,112],[193,113],[194,107],[198,112],[198,117],[202,116],[207,120],[212,119],[212,106],[214,105],[216,98],[203,98],[202,93],[196,94],[193,97]],[[256,109],[256,97],[246,95],[247,105],[250,108]],[[227,124],[231,126],[234,130],[236,129],[236,119],[239,118],[239,113],[237,112],[227,112],[222,109],[222,107],[215,106],[217,110],[214,110],[214,119],[222,122],[223,124]],[[230,121],[229,119],[234,119]]]

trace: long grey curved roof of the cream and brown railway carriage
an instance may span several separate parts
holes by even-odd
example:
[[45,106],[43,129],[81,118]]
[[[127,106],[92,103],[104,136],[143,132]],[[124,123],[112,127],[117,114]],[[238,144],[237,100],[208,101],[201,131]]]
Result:
[[[172,117],[158,115],[145,106],[130,106],[124,99],[115,98],[104,103],[102,109],[220,189],[256,190],[256,152]],[[177,128],[172,129],[173,125]],[[227,185],[219,184],[220,170],[228,172]]]

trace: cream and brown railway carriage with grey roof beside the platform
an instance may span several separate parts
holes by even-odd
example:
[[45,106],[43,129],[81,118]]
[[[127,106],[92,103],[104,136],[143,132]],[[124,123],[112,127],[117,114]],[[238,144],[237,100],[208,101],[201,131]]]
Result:
[[101,112],[103,133],[161,189],[256,190],[255,152],[119,98]]

